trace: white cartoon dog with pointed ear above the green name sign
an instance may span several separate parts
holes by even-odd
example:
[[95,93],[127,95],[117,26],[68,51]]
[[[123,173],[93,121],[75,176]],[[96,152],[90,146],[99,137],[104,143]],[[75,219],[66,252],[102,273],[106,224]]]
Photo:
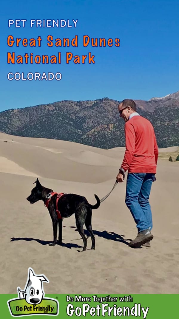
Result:
[[25,299],[27,303],[38,304],[44,296],[43,282],[49,283],[49,280],[44,275],[36,275],[34,270],[29,267],[27,282],[24,290],[17,287],[19,299]]

